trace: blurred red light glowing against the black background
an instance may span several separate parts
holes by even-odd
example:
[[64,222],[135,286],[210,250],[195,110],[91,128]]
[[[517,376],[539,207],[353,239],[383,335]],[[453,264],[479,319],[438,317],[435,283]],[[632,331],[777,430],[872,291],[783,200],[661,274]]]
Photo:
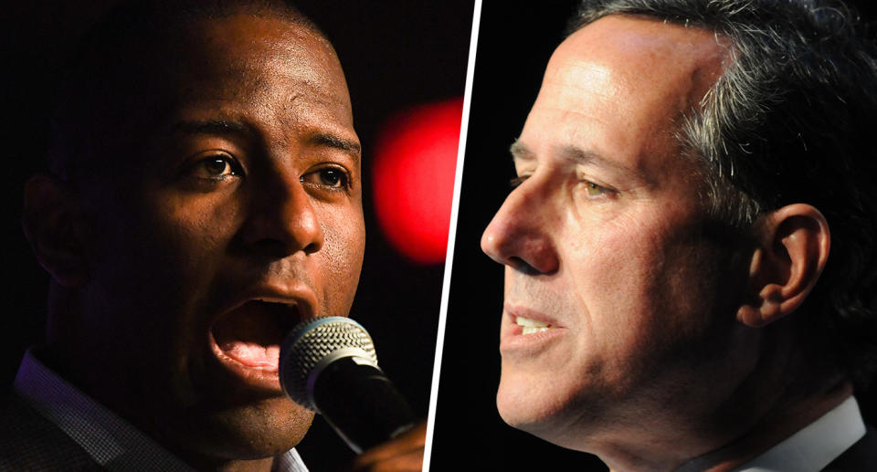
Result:
[[378,223],[390,244],[424,264],[448,246],[463,100],[403,111],[379,133],[373,166]]

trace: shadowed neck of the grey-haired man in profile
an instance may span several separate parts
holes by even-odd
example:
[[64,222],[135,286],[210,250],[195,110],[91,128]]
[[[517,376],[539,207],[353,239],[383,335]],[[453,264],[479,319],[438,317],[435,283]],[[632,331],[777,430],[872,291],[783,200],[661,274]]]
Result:
[[662,402],[641,405],[639,424],[621,428],[625,423],[616,422],[611,435],[582,450],[597,454],[613,471],[727,471],[794,435],[852,393],[849,381],[827,366],[815,368],[790,337],[748,346],[760,351],[751,367],[726,366],[680,382],[689,388],[675,389],[679,401],[658,396]]

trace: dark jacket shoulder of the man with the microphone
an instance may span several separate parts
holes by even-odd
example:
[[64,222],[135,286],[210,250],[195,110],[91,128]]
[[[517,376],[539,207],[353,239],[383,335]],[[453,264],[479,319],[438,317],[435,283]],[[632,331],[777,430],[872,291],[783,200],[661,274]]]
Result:
[[0,472],[103,470],[16,393],[0,394]]

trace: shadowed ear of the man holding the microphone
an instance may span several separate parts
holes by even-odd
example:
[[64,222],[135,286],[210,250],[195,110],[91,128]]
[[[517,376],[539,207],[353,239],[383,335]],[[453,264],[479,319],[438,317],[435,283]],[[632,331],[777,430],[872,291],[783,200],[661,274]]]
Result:
[[38,173],[25,184],[25,236],[39,264],[66,288],[77,288],[88,278],[76,205],[69,185],[53,175]]

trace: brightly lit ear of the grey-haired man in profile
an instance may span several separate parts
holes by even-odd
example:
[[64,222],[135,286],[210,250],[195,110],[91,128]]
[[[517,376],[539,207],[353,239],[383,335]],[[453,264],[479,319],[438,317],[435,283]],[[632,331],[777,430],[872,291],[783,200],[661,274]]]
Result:
[[762,216],[755,238],[749,301],[737,311],[737,320],[751,327],[765,326],[801,306],[829,259],[831,245],[825,216],[806,204]]

